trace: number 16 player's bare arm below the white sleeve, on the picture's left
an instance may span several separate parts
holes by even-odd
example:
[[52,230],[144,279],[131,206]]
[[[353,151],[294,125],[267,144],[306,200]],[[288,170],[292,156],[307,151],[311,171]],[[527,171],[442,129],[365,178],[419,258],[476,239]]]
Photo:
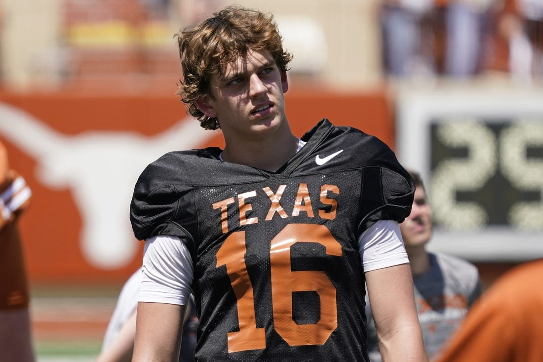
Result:
[[185,305],[139,302],[132,362],[178,362]]

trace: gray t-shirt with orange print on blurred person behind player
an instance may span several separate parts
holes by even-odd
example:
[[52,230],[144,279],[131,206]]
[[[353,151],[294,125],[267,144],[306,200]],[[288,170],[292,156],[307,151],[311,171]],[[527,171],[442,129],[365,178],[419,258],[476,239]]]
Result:
[[[422,337],[428,356],[432,358],[462,323],[482,289],[477,267],[468,261],[430,253],[430,263],[430,270],[414,277],[413,282]],[[377,332],[367,295],[366,315],[370,361],[380,362]]]

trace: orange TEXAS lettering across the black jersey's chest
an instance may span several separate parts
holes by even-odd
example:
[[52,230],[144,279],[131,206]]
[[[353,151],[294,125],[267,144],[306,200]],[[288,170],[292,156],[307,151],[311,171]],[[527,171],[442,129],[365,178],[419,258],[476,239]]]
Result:
[[[220,210],[220,226],[223,233],[228,232],[228,208],[238,208],[239,225],[256,224],[261,221],[270,221],[275,215],[285,219],[287,217],[300,216],[300,213],[305,213],[307,217],[315,217],[313,210],[313,200],[318,198],[321,205],[318,207],[318,217],[326,220],[334,220],[336,218],[337,201],[334,198],[329,198],[329,192],[339,195],[339,188],[336,185],[324,184],[320,187],[319,195],[310,195],[306,183],[300,183],[298,190],[296,191],[296,197],[294,198],[294,204],[292,206],[292,213],[289,215],[281,204],[281,197],[285,193],[287,185],[279,185],[277,190],[272,190],[268,186],[261,190],[252,190],[237,194],[235,197],[229,197],[212,204],[213,209]],[[251,199],[254,200],[261,192],[264,192],[271,202],[268,213],[264,217],[258,216],[248,217],[252,210]],[[263,220],[262,220],[263,218]]]

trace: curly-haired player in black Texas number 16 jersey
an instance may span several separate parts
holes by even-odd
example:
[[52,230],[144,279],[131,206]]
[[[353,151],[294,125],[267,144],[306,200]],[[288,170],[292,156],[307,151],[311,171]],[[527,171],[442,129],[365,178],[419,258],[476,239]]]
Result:
[[386,358],[426,361],[398,224],[414,185],[394,153],[326,119],[293,135],[272,16],[227,7],[177,39],[179,95],[225,146],[167,153],[137,180],[133,360],[175,360],[192,291],[197,361],[367,361],[367,284]]

